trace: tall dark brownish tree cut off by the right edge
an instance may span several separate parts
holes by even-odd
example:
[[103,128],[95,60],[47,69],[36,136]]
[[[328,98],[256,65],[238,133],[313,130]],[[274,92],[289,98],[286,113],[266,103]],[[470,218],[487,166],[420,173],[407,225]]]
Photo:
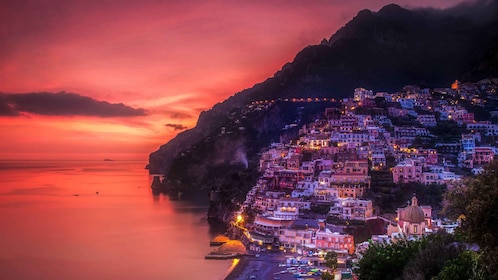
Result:
[[465,215],[461,230],[470,242],[479,245],[490,279],[498,279],[498,162],[466,182],[466,187],[447,196],[448,212]]

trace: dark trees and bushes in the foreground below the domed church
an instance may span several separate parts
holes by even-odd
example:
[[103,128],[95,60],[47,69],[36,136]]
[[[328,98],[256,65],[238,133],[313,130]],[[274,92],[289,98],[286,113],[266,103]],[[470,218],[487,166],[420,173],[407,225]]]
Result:
[[461,220],[455,235],[371,244],[359,261],[359,279],[498,279],[498,162],[444,197],[444,214]]

